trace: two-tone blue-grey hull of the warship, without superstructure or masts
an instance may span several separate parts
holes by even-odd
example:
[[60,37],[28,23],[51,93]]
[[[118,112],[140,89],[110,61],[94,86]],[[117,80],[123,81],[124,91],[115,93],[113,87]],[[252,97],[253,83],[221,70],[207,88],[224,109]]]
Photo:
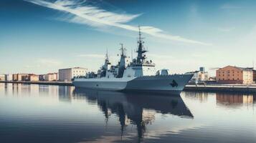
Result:
[[135,78],[75,79],[75,87],[110,91],[162,92],[179,94],[193,74],[146,76]]

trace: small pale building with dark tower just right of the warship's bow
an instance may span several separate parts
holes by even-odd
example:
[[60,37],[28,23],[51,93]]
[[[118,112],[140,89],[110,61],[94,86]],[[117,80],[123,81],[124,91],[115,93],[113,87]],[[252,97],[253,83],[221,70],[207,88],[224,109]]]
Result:
[[208,72],[205,71],[204,67],[200,67],[199,71],[194,71],[194,76],[190,79],[190,83],[199,83],[208,81]]

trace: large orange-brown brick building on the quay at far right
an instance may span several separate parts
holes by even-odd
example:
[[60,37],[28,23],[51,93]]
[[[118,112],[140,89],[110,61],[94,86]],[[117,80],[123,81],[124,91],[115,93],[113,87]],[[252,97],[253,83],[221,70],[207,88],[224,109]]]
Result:
[[222,84],[252,84],[253,69],[225,66],[216,71],[217,82]]

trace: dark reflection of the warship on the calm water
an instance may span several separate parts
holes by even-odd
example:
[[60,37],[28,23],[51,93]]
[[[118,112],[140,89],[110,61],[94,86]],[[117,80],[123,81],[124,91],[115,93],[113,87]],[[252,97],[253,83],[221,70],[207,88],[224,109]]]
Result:
[[84,96],[89,102],[97,102],[108,121],[110,114],[119,118],[121,132],[128,124],[137,127],[138,138],[143,138],[146,125],[155,120],[155,112],[193,118],[193,115],[179,95],[158,96],[157,94],[103,92],[75,89],[75,96]]

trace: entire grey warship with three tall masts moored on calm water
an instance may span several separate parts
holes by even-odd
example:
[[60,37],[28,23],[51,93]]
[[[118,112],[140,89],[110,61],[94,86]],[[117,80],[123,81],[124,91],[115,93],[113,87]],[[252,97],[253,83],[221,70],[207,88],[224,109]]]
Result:
[[72,84],[78,88],[100,89],[110,91],[136,91],[180,94],[194,74],[169,74],[168,69],[156,70],[156,64],[147,60],[141,29],[138,28],[138,53],[128,62],[126,49],[121,44],[120,61],[111,65],[108,52],[105,63],[97,73],[88,72],[85,77],[76,77]]

